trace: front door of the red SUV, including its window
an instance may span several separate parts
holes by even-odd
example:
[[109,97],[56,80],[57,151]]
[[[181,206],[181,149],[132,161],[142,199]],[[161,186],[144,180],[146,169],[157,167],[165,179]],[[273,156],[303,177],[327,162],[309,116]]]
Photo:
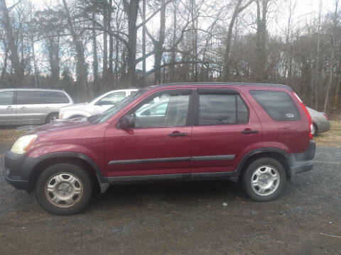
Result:
[[[129,130],[110,126],[105,136],[109,177],[183,178],[190,174],[191,90],[168,90],[148,96],[126,115],[136,116]],[[157,101],[168,101],[164,115],[136,113]]]

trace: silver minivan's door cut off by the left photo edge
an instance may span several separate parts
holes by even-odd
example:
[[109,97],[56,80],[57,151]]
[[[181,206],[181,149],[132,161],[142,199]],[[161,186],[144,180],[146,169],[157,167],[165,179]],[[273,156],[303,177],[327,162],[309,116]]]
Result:
[[0,125],[16,125],[16,91],[0,92]]

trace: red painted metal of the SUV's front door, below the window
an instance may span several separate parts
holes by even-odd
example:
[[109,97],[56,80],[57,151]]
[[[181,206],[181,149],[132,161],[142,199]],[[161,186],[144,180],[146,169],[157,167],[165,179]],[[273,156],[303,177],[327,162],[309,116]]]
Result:
[[[170,137],[174,131],[186,132],[184,137]],[[192,127],[134,128],[119,130],[114,125],[105,135],[106,162],[127,159],[162,159],[190,157]],[[139,164],[111,164],[108,176],[146,174],[189,174],[190,161]]]

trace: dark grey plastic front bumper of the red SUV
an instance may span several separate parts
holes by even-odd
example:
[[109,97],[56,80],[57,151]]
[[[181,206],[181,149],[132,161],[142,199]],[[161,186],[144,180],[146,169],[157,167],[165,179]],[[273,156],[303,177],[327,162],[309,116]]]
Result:
[[33,158],[26,157],[25,154],[6,152],[4,157],[5,180],[14,188],[28,190],[32,160]]

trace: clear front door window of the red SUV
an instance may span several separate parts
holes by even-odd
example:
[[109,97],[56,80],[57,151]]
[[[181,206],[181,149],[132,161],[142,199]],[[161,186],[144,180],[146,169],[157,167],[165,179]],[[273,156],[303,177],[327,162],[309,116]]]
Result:
[[190,91],[163,92],[146,99],[133,113],[136,128],[185,126]]

